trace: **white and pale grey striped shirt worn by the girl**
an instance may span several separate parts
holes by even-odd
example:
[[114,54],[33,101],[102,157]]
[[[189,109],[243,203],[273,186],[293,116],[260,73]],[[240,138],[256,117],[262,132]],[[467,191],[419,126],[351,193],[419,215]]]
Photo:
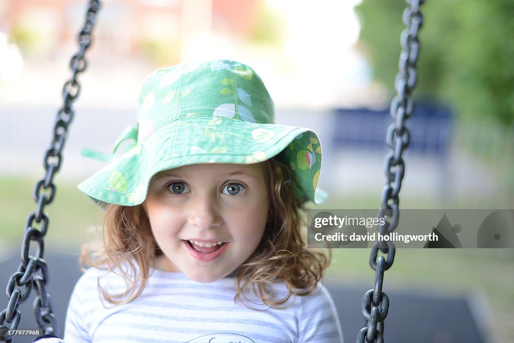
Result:
[[[71,342],[342,343],[334,302],[326,289],[291,297],[291,306],[258,310],[234,302],[236,279],[199,283],[182,273],[154,270],[141,295],[126,304],[102,302],[98,284],[125,290],[123,279],[91,268],[71,295],[64,340]],[[280,297],[285,285],[274,291]],[[252,307],[255,307],[252,305]]]

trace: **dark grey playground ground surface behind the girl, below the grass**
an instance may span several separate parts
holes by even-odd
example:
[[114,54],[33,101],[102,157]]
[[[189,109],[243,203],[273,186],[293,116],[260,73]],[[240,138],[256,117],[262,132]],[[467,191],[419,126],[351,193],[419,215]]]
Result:
[[[56,317],[64,329],[64,318],[71,291],[81,272],[78,255],[68,252],[47,251],[45,260],[51,266],[51,280],[48,292],[53,299]],[[0,262],[0,270],[16,270],[20,256],[14,254]],[[0,275],[0,283],[7,284],[9,273]],[[339,285],[335,281],[326,283],[336,304],[345,342],[355,341],[356,333],[362,328],[362,290],[366,285],[353,287]],[[392,306],[386,321],[385,337],[388,341],[403,343],[488,343],[479,326],[480,320],[473,316],[471,303],[463,297],[421,295],[406,292],[387,292]],[[32,315],[33,297],[21,304],[22,322],[20,328],[37,328]],[[7,299],[3,307],[7,306]],[[61,333],[62,334],[62,333]],[[33,338],[17,337],[15,343],[30,343]]]

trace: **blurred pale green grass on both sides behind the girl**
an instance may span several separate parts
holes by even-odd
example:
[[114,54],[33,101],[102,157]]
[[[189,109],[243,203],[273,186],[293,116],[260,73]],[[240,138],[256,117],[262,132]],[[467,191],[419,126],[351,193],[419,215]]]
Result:
[[[36,178],[0,178],[0,242],[19,249],[25,221],[36,204],[32,189]],[[77,188],[77,182],[60,181],[54,202],[47,206],[50,217],[47,249],[65,246],[79,251],[88,228],[94,224],[95,205]],[[379,194],[332,199],[323,208],[376,208]],[[421,198],[403,199],[413,208],[433,208]],[[101,214],[101,213],[100,213]],[[19,245],[18,245],[19,244]],[[373,287],[368,249],[333,250],[332,265],[326,278],[348,284]],[[398,249],[393,267],[384,277],[384,291],[429,292],[473,296],[487,299],[490,327],[499,341],[514,341],[514,329],[508,322],[514,304],[514,250],[512,249]]]

